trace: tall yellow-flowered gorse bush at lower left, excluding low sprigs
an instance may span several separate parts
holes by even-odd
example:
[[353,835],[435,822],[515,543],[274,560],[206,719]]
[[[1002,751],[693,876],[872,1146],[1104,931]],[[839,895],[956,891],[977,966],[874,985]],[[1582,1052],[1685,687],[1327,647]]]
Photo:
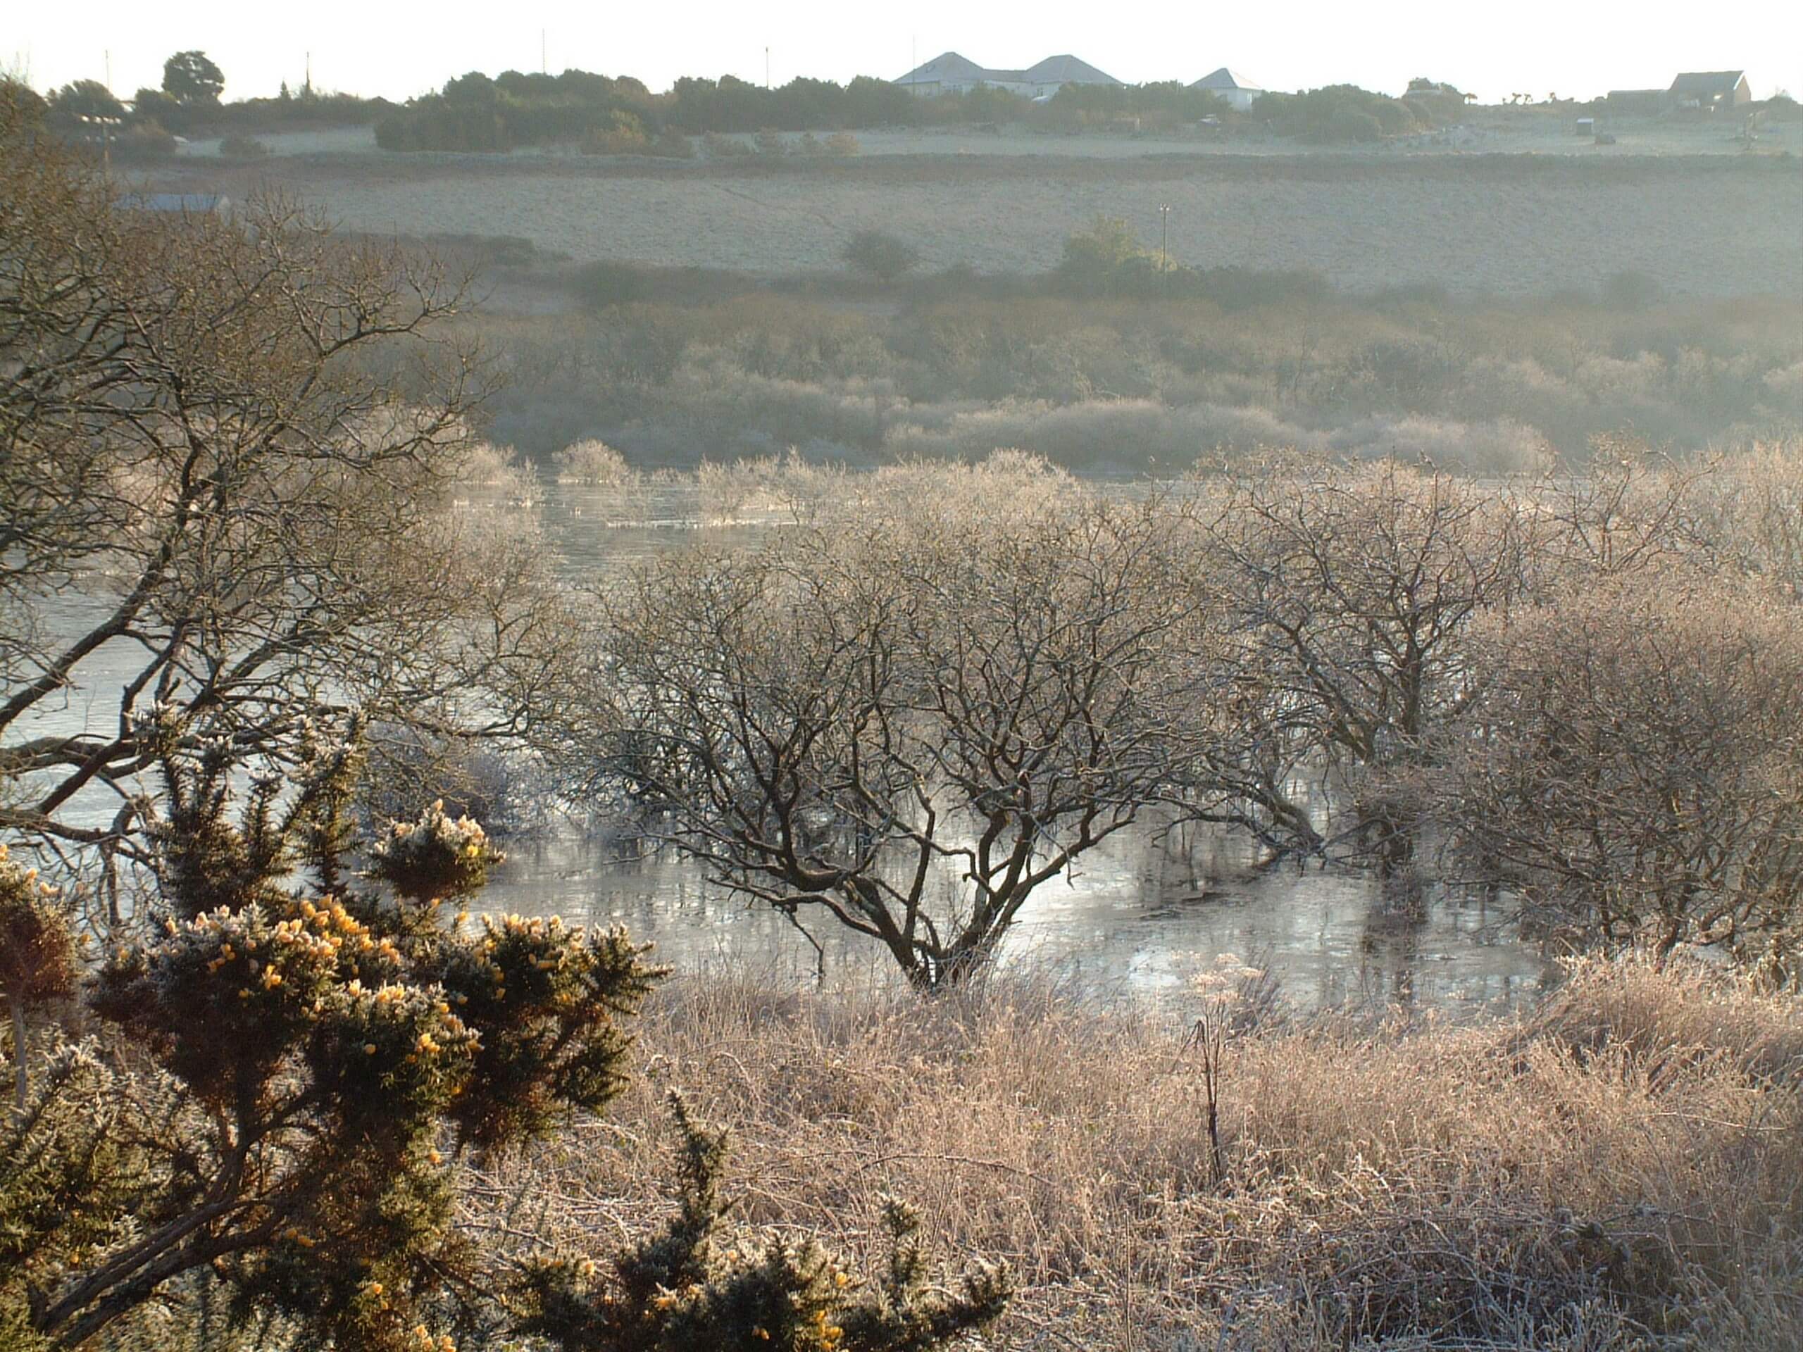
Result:
[[[88,993],[105,1042],[151,1076],[124,1094],[144,1116],[115,1127],[130,1206],[99,1217],[101,1244],[85,1235],[105,1186],[40,1215],[7,1298],[45,1343],[74,1347],[206,1271],[245,1318],[413,1347],[471,1269],[442,1148],[498,1150],[613,1098],[618,1019],[654,973],[617,932],[447,928],[438,898],[480,878],[435,849],[384,856],[395,900],[346,889],[353,748],[321,752],[287,806],[260,782],[233,822],[224,748],[197,759],[175,726],[159,737],[171,813],[150,934]],[[310,887],[283,882],[294,865]],[[54,1080],[47,1094],[45,1121],[76,1109]]]

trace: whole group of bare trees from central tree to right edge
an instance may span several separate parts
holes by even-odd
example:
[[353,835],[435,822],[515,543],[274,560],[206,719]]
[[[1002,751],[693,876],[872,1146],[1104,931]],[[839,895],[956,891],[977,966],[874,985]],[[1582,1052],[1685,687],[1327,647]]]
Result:
[[1787,986],[1796,463],[709,465],[705,519],[773,528],[608,579],[537,732],[573,800],[927,986],[1152,809]]

